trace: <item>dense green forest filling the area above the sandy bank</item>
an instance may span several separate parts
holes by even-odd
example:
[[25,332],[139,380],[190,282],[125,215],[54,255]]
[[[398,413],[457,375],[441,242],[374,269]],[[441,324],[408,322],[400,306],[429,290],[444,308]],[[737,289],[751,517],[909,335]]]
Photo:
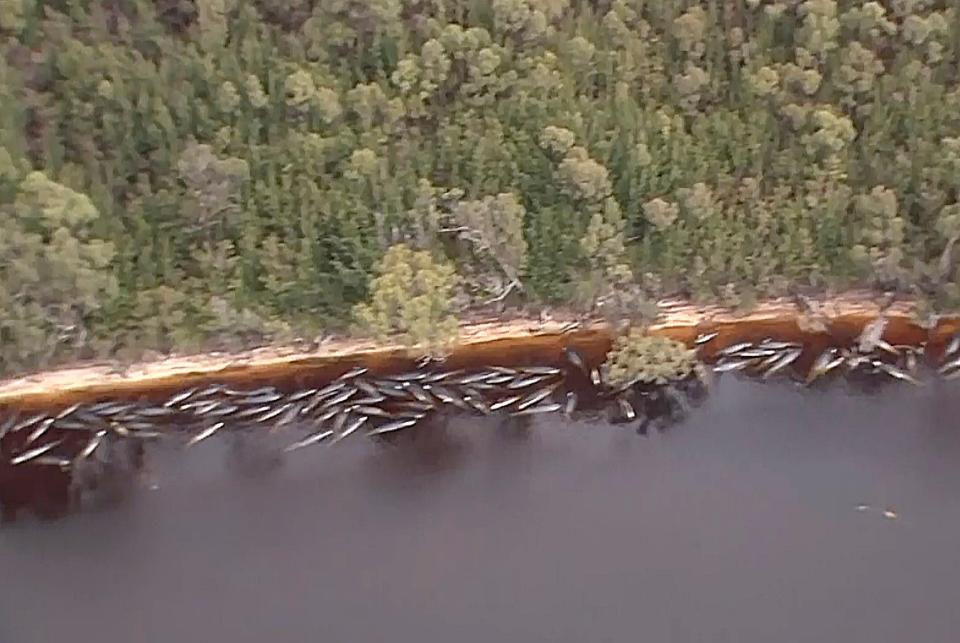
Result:
[[0,0],[0,42],[0,373],[960,304],[957,0]]

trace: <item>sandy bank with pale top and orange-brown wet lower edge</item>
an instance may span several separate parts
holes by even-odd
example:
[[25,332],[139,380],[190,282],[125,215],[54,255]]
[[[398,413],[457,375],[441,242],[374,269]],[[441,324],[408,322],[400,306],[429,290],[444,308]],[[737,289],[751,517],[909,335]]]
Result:
[[[660,302],[661,315],[649,331],[690,342],[697,332],[721,330],[726,343],[759,339],[775,332],[780,337],[838,333],[847,339],[881,311],[877,297],[852,292],[827,300],[810,300],[801,311],[791,300],[763,302],[746,314],[717,306],[694,306],[681,300]],[[915,303],[896,302],[885,310],[891,319],[890,341],[934,343],[960,329],[960,317],[944,318],[935,329],[921,329],[912,316]],[[501,363],[504,356],[521,352],[536,361],[550,360],[564,344],[576,345],[592,361],[603,361],[610,347],[610,327],[599,320],[582,320],[573,332],[564,332],[575,321],[557,314],[542,322],[534,319],[489,320],[462,326],[460,342],[450,363],[458,366]],[[257,385],[323,380],[332,373],[362,364],[374,369],[409,368],[411,351],[400,346],[378,345],[369,340],[339,339],[311,351],[292,347],[265,347],[240,354],[171,356],[155,362],[115,366],[83,366],[0,380],[0,406],[43,408],[76,401],[159,395],[201,382],[221,381]],[[509,363],[509,360],[507,362]]]

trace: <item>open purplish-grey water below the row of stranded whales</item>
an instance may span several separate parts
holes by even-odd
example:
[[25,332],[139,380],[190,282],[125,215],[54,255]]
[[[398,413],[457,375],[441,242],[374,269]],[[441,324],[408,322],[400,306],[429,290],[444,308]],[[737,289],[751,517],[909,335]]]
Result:
[[866,397],[728,377],[648,438],[454,419],[273,470],[230,436],[149,456],[155,490],[0,529],[0,641],[960,636],[945,385]]

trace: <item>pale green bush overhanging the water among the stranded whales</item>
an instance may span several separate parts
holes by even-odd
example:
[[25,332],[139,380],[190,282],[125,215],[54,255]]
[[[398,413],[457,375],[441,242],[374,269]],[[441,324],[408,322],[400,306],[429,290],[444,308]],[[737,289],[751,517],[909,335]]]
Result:
[[603,369],[606,381],[616,387],[666,384],[689,376],[695,366],[696,353],[684,344],[633,327],[616,339]]

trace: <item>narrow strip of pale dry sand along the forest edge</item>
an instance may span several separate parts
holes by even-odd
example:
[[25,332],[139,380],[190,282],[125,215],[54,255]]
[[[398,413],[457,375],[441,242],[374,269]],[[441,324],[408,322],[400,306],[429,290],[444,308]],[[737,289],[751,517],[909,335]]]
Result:
[[[719,306],[695,306],[680,300],[659,302],[661,314],[650,327],[651,332],[676,334],[678,330],[701,326],[707,330],[714,325],[762,322],[764,320],[798,317],[808,325],[830,323],[841,317],[873,316],[880,313],[874,296],[868,293],[848,293],[829,300],[811,300],[810,310],[802,311],[788,299],[769,300],[760,303],[750,312],[739,314]],[[898,301],[886,308],[891,317],[910,317],[916,306],[911,301]],[[465,324],[460,329],[458,350],[485,342],[551,335],[562,332],[577,320],[572,314],[554,314],[549,320],[514,319],[491,320]],[[803,322],[801,322],[803,324]],[[580,329],[602,329],[600,320],[581,321]],[[686,335],[689,333],[682,333]],[[323,364],[335,362],[347,356],[355,358],[374,353],[401,352],[398,345],[378,344],[374,340],[332,339],[322,343],[314,351],[303,351],[290,346],[264,347],[242,353],[203,353],[197,355],[172,355],[150,362],[133,364],[123,369],[116,365],[98,362],[95,365],[78,364],[74,367],[34,373],[23,377],[0,380],[0,404],[22,403],[27,398],[37,398],[63,393],[76,393],[89,389],[116,388],[131,390],[149,389],[151,385],[169,382],[185,376],[213,376],[242,371],[251,373],[260,369],[276,369],[283,365]]]

